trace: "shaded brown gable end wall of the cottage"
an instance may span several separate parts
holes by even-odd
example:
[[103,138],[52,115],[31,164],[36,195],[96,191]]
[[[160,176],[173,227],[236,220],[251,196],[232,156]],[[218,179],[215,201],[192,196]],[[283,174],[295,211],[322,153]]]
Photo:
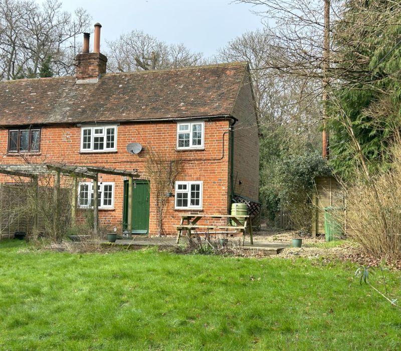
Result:
[[234,193],[258,201],[259,135],[249,79],[243,82],[233,115],[238,119],[234,125]]

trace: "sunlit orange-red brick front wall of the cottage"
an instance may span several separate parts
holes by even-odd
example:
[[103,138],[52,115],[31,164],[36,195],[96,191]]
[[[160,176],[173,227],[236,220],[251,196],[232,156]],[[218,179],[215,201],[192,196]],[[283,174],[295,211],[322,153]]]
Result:
[[[203,181],[203,212],[227,213],[229,193],[229,128],[228,120],[205,121],[205,149],[196,151],[179,151],[183,159],[183,170],[177,180]],[[226,132],[226,133],[225,133]],[[146,147],[151,144],[154,150],[174,159],[176,145],[176,123],[132,123],[117,127],[117,152],[80,153],[81,128],[71,125],[47,126],[42,129],[41,152],[38,155],[26,155],[29,162],[65,162],[68,164],[105,166],[120,169],[138,168],[141,179],[144,174]],[[224,142],[223,142],[224,138]],[[1,164],[24,163],[18,155],[7,155],[8,131],[0,130]],[[126,145],[140,142],[144,151],[137,155],[129,154]],[[224,146],[223,146],[224,145]],[[102,224],[121,226],[123,206],[123,178],[102,174],[104,182],[114,182],[114,209],[99,210]],[[0,182],[11,182],[11,178],[2,176]],[[155,234],[155,209],[150,196],[149,233]],[[179,224],[179,215],[187,211],[174,210],[174,198],[168,199],[164,220],[167,233],[175,233]]]

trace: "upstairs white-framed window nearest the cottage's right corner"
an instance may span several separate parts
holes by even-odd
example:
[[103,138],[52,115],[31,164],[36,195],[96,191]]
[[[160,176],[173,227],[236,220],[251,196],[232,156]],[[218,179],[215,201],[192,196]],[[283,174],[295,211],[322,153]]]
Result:
[[203,148],[204,138],[204,121],[177,123],[177,149]]

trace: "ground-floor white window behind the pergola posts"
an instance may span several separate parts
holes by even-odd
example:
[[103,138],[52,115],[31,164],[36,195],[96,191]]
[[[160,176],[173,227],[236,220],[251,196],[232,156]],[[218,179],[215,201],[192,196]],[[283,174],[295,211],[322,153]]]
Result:
[[[114,208],[114,183],[98,183],[97,203],[99,209]],[[93,207],[93,183],[82,182],[78,184],[78,207],[89,209]]]

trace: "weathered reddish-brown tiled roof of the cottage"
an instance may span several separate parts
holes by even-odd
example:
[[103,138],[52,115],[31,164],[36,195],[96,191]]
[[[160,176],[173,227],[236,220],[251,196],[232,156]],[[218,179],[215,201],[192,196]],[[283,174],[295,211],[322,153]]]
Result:
[[247,71],[237,62],[176,70],[0,83],[0,125],[153,120],[230,115]]

